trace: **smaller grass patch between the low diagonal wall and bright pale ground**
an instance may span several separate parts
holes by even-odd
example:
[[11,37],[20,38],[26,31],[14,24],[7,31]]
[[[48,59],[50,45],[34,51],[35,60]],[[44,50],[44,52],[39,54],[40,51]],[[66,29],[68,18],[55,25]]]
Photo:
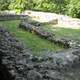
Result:
[[55,33],[56,37],[59,38],[69,38],[75,41],[80,41],[80,29],[69,29],[69,28],[59,28],[54,27],[53,25],[43,25],[44,30],[48,32]]

